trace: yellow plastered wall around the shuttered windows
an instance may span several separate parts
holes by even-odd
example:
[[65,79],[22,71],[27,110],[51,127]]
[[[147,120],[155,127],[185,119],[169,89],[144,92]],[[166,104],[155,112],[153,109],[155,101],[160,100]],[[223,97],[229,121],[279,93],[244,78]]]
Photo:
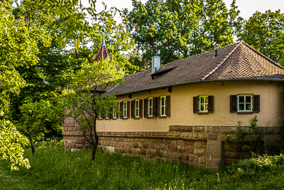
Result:
[[[258,115],[258,124],[265,126],[267,122],[278,122],[278,117],[284,114],[284,85],[272,81],[223,81],[193,83],[188,85],[173,86],[172,93],[168,88],[133,93],[119,96],[123,100],[143,99],[170,95],[170,117],[153,119],[141,118],[140,120],[99,120],[99,132],[167,132],[169,125],[206,125],[206,126],[236,126],[237,121],[248,125],[254,115]],[[254,94],[261,95],[261,112],[249,115],[240,115],[230,112],[229,95]],[[197,95],[214,95],[214,112],[207,115],[198,115],[192,111],[192,97]]]

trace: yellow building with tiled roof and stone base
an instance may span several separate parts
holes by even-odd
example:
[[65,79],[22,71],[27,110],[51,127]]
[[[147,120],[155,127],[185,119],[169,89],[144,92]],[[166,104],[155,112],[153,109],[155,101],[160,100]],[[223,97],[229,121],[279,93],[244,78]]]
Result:
[[[108,55],[101,47],[96,60]],[[151,67],[107,92],[115,93],[121,114],[97,122],[99,148],[216,168],[240,157],[223,135],[234,135],[238,121],[248,125],[257,115],[258,125],[281,125],[284,68],[244,41],[166,65],[155,56]],[[89,146],[70,118],[62,133],[65,150]],[[263,151],[275,139],[263,139]]]

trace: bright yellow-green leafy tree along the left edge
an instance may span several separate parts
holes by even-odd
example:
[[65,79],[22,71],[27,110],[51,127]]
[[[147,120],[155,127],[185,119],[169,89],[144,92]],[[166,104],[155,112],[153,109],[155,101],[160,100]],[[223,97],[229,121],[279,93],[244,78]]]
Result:
[[16,67],[38,62],[35,38],[44,37],[37,34],[36,26],[27,26],[25,19],[13,16],[10,1],[0,1],[0,157],[10,160],[11,169],[18,169],[17,165],[29,167],[21,147],[27,139],[7,119],[11,94],[17,94],[26,85]]

